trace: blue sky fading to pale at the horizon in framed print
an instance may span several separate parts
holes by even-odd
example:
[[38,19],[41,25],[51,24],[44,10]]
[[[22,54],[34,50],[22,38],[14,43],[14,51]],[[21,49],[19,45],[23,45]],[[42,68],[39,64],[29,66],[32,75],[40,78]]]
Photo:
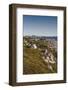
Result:
[[56,16],[24,15],[24,36],[57,36]]

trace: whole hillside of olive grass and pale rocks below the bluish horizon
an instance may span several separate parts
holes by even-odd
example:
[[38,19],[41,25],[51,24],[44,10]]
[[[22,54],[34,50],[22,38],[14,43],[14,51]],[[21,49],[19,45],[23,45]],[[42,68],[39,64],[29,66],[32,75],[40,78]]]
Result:
[[51,40],[24,37],[23,44],[23,74],[57,73],[57,51]]

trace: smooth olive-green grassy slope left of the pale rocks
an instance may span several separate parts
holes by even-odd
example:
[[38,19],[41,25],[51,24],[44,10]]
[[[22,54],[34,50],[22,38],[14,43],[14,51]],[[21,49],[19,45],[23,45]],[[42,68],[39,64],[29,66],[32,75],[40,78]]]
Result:
[[23,61],[24,74],[41,74],[50,73],[47,63],[41,58],[41,53],[38,49],[24,48]]

